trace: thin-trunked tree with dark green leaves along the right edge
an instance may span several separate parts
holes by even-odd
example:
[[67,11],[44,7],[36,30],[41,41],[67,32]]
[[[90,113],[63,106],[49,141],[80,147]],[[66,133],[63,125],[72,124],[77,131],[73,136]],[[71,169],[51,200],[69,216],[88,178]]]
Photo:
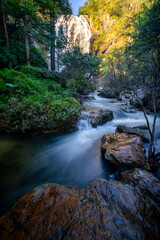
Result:
[[[128,80],[132,86],[136,86],[133,81],[135,63],[141,72],[141,86],[144,92],[150,94],[151,104],[154,113],[153,123],[148,120],[144,103],[137,94],[135,95],[140,102],[141,108],[146,119],[147,128],[150,134],[150,146],[148,151],[148,163],[155,167],[160,160],[160,153],[156,154],[155,149],[155,127],[157,113],[160,110],[160,2],[155,0],[152,7],[143,9],[135,24],[135,31],[131,34],[131,43],[126,49],[126,59],[130,58],[130,63],[126,64],[128,69]],[[131,67],[132,66],[132,67]],[[144,74],[145,73],[145,74]],[[139,79],[140,80],[140,79]]]

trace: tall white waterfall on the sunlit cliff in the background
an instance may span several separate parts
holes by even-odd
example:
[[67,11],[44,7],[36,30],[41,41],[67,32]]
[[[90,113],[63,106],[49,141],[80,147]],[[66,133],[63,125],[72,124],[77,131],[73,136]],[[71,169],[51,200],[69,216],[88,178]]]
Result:
[[[58,18],[56,22],[56,35],[59,40],[66,43],[65,49],[73,46],[79,46],[84,53],[90,52],[91,29],[83,15],[64,16]],[[59,69],[59,57],[65,50],[56,49],[56,70]]]

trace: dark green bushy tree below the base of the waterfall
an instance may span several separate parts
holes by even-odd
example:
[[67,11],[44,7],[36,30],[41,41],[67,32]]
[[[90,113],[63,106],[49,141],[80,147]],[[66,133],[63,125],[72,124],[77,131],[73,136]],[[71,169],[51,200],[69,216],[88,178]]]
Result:
[[99,71],[99,57],[84,54],[79,47],[74,47],[62,56],[61,61],[64,68],[61,75],[74,94],[91,89],[91,78]]

